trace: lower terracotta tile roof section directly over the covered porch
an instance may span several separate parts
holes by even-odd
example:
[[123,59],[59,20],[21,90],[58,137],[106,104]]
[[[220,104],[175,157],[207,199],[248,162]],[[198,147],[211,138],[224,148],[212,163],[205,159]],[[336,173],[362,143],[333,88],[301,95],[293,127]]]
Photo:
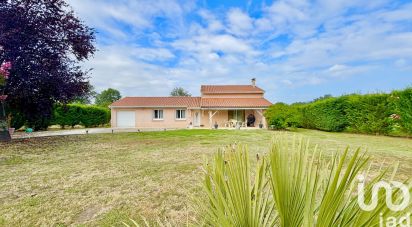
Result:
[[272,105],[271,102],[265,98],[202,98],[201,107],[202,108],[231,108],[231,107],[269,107]]

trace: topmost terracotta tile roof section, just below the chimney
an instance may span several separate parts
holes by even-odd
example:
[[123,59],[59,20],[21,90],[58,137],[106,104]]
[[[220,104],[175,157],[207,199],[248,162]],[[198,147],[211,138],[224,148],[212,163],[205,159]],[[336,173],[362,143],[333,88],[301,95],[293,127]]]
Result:
[[200,91],[203,94],[264,93],[261,88],[252,85],[202,85]]

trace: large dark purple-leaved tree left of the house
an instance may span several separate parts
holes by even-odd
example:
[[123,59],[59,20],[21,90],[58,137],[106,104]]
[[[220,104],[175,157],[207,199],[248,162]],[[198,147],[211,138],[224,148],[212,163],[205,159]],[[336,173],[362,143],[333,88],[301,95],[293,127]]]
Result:
[[64,0],[0,0],[0,31],[0,62],[13,62],[8,108],[47,128],[54,103],[89,91],[79,63],[95,52],[95,32]]

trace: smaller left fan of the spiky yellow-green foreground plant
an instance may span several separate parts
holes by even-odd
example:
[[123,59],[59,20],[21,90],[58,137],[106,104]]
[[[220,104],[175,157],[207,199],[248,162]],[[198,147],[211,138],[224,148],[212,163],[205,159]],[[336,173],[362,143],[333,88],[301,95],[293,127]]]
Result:
[[206,225],[272,226],[274,204],[270,199],[267,164],[258,160],[251,181],[249,153],[245,146],[220,150],[206,164],[204,188],[208,202],[200,203]]

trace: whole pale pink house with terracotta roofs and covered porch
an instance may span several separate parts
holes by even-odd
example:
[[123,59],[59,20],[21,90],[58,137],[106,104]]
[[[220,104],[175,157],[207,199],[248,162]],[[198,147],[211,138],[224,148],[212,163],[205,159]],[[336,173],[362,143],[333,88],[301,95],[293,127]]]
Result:
[[125,97],[110,105],[114,128],[266,127],[272,104],[251,85],[202,85],[200,97]]

